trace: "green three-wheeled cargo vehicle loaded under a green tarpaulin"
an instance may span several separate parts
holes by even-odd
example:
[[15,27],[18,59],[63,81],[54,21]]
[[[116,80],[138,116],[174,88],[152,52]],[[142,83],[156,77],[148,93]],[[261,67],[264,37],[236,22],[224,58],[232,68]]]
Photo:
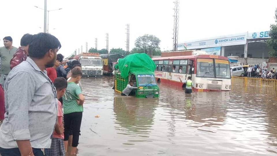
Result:
[[159,97],[154,70],[156,65],[151,58],[144,54],[132,54],[119,59],[115,66],[115,91],[121,93],[129,81],[134,82],[135,96],[138,98]]

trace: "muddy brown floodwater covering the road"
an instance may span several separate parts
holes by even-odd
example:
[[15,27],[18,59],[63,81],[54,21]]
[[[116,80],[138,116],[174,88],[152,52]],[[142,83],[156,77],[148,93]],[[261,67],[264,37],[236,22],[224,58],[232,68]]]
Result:
[[[160,98],[112,90],[113,78],[83,78],[78,155],[276,155],[276,94],[193,92],[159,84]],[[95,118],[99,115],[99,118]]]

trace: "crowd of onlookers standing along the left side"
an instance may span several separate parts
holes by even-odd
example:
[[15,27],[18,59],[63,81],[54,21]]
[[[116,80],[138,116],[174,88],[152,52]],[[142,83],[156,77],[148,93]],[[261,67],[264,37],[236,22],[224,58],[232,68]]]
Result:
[[3,42],[0,154],[59,156],[68,145],[75,154],[84,103],[80,62],[57,54],[61,44],[50,34],[25,34],[19,48],[10,36]]

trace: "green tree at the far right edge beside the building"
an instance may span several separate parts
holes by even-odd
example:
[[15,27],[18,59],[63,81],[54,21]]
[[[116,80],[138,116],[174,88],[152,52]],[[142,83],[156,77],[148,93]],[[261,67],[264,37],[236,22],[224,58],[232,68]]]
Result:
[[277,8],[275,9],[275,23],[270,25],[269,36],[270,39],[267,40],[267,45],[272,47],[274,51],[270,51],[268,55],[270,57],[277,57]]

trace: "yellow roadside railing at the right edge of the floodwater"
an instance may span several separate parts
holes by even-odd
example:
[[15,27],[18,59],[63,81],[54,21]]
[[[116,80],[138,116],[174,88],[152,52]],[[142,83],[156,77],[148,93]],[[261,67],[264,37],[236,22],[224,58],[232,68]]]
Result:
[[277,94],[277,80],[232,76],[231,88],[235,91]]

